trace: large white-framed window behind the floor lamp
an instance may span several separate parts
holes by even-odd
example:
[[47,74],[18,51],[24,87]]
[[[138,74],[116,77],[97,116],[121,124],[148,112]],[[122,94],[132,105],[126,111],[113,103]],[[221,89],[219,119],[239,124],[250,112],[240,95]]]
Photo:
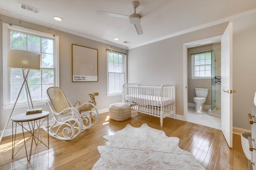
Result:
[[[22,69],[11,69],[6,66],[8,49],[22,49],[41,54],[41,69],[30,70],[27,81],[33,104],[48,100],[46,90],[58,86],[59,82],[58,36],[4,23],[3,42],[3,77],[7,80],[3,81],[3,88],[8,89],[4,90],[4,106],[14,104],[23,82]],[[17,104],[23,103],[27,103],[25,86],[17,101]]]

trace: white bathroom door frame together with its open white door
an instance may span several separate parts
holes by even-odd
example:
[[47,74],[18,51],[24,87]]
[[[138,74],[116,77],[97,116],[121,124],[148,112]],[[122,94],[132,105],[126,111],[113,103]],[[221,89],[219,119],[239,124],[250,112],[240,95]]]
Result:
[[[232,58],[233,58],[233,23],[230,22],[222,34],[222,36],[216,36],[212,38],[206,38],[195,42],[189,42],[183,44],[183,120],[188,120],[188,47],[200,43],[213,43],[215,40],[221,41],[221,131],[228,143],[228,146],[232,148],[233,138],[233,101],[232,93],[229,93],[233,89],[232,84]],[[230,64],[231,63],[231,64]],[[227,92],[227,93],[225,93]]]

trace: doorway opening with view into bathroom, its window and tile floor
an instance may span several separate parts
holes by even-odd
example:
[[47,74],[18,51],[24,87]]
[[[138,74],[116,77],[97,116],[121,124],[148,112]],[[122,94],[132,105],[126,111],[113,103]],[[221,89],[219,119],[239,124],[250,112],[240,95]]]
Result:
[[[221,130],[220,113],[220,42],[200,43],[196,47],[188,48],[188,122],[204,125]],[[198,88],[207,91],[206,96],[200,96]],[[203,95],[203,94],[201,94]],[[198,99],[206,98],[204,102],[199,101],[200,111],[196,109]],[[194,101],[194,100],[197,100]],[[203,105],[202,105],[203,104]],[[198,105],[198,104],[197,104]],[[214,107],[214,111],[212,111]]]

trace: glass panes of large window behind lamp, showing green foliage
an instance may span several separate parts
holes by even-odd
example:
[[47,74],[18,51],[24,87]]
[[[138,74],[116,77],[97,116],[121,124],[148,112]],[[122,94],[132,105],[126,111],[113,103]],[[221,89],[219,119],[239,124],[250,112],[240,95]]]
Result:
[[[30,70],[27,82],[32,100],[46,99],[44,94],[46,89],[54,86],[53,40],[19,32],[10,32],[10,41],[11,49],[22,49],[41,54],[41,69]],[[23,75],[21,69],[11,69],[10,73],[10,95],[11,102],[14,102],[23,82]],[[26,89],[24,86],[18,102],[26,100]]]

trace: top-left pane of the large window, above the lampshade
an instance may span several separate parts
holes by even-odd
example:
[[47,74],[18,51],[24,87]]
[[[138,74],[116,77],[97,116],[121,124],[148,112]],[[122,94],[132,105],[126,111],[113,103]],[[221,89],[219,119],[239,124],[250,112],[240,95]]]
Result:
[[26,34],[11,32],[11,48],[27,49]]

